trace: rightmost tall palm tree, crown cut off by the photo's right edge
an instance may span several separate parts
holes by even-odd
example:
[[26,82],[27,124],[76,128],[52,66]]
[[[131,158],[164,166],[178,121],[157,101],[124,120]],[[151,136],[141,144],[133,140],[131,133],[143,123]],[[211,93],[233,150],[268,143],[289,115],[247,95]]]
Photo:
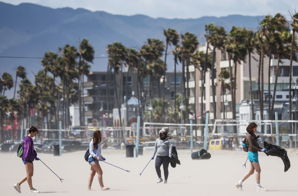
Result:
[[[293,69],[293,56],[294,56],[294,40],[295,32],[298,32],[298,13],[290,13],[292,18],[292,39],[291,39],[291,56],[290,56],[290,73],[289,73],[289,120],[292,120],[292,69]],[[289,133],[293,133],[292,123],[290,123]],[[293,140],[293,139],[292,139]]]

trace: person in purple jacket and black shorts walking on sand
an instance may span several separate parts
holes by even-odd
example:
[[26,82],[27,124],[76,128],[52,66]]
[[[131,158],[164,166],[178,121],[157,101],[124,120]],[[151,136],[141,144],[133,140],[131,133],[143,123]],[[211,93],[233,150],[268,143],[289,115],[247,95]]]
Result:
[[39,191],[34,189],[32,186],[33,161],[34,159],[36,161],[39,160],[39,158],[37,158],[37,153],[34,150],[32,137],[36,136],[37,133],[39,133],[38,129],[34,126],[31,126],[29,128],[28,136],[26,136],[23,140],[24,154],[23,154],[22,160],[25,165],[27,175],[25,175],[18,183],[15,183],[13,185],[13,187],[15,187],[15,190],[17,190],[17,192],[19,193],[21,193],[21,184],[25,181],[27,181],[29,185],[30,193],[39,193]]

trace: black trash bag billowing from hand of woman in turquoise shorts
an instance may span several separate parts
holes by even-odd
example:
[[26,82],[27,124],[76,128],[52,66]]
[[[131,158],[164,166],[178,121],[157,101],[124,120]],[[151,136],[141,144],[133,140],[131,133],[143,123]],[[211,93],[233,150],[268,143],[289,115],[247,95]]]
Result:
[[285,164],[285,172],[291,167],[290,160],[287,155],[287,151],[280,146],[272,145],[267,141],[264,141],[264,148],[267,149],[265,151],[266,155],[269,156],[278,156],[283,160],[283,164]]

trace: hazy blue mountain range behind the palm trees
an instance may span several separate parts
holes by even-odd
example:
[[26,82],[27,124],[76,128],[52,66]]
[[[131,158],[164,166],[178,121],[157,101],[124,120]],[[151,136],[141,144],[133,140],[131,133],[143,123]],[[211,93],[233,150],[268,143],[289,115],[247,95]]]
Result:
[[[113,15],[80,8],[52,9],[30,3],[12,5],[0,2],[0,18],[0,74],[7,71],[15,78],[15,68],[22,65],[33,81],[34,74],[42,69],[41,58],[46,51],[58,52],[58,47],[66,44],[78,46],[78,42],[83,38],[89,40],[97,57],[91,65],[91,71],[105,71],[105,47],[115,41],[126,47],[139,49],[147,38],[165,41],[162,29],[170,27],[182,34],[187,31],[194,33],[200,44],[204,44],[205,24],[224,26],[226,31],[232,26],[255,29],[264,16],[166,19],[150,18],[146,15]],[[173,71],[171,60],[167,64],[170,65],[168,70]],[[9,93],[7,96],[10,97]]]

